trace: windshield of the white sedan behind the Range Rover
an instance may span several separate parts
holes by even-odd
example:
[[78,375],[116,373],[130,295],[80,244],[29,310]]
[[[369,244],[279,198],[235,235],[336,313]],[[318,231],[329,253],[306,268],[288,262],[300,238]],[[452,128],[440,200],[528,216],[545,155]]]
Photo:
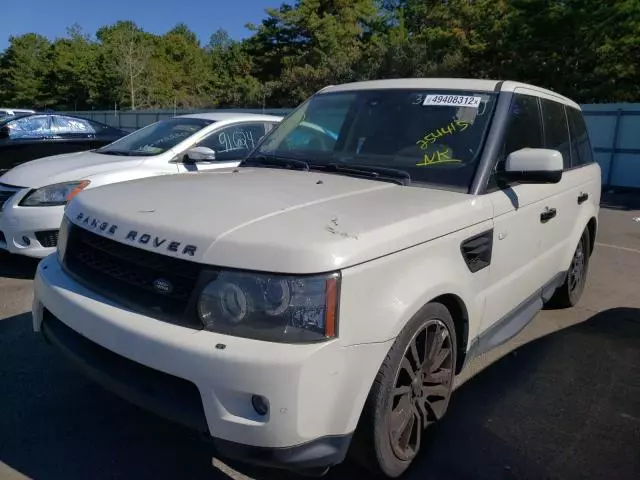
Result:
[[105,155],[160,155],[212,123],[213,120],[201,118],[161,120],[105,145],[96,152]]

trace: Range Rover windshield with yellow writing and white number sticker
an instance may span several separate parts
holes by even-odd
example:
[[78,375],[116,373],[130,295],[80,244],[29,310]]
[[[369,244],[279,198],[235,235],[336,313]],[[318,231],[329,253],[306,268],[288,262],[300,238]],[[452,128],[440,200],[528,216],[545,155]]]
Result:
[[[252,153],[311,169],[384,167],[413,183],[466,190],[475,174],[496,94],[384,89],[318,94]],[[339,168],[334,171],[353,169]]]

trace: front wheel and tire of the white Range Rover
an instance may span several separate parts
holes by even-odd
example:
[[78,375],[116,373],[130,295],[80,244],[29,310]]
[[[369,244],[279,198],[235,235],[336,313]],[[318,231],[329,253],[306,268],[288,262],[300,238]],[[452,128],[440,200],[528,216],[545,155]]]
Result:
[[354,459],[375,475],[404,473],[424,445],[427,427],[447,411],[456,361],[449,310],[440,303],[425,305],[400,332],[376,375],[354,435]]

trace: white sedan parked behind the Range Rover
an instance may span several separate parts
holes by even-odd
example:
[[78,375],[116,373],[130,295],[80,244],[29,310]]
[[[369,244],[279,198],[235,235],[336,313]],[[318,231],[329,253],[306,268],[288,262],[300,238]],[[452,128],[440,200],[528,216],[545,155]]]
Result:
[[42,258],[55,251],[65,205],[80,191],[153,175],[236,166],[280,120],[243,113],[184,115],[95,150],[15,167],[0,177],[0,249]]

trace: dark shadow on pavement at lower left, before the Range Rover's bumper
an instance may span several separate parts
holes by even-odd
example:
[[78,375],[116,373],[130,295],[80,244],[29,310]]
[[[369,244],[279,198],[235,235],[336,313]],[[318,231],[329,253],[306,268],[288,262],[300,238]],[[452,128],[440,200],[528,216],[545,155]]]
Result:
[[86,380],[31,330],[0,320],[0,462],[34,479],[224,480],[190,431]]

